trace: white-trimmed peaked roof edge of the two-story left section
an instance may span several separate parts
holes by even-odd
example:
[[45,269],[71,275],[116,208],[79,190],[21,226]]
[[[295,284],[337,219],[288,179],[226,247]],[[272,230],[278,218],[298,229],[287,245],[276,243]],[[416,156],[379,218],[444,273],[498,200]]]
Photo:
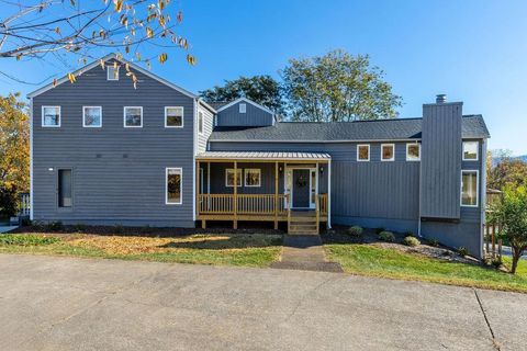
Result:
[[[190,91],[188,91],[188,90],[186,90],[186,89],[183,89],[183,88],[181,88],[181,87],[179,87],[179,86],[176,86],[175,83],[169,82],[168,80],[166,80],[166,79],[164,79],[164,78],[161,78],[161,77],[159,77],[159,76],[157,76],[157,75],[154,75],[153,72],[148,71],[147,69],[144,69],[143,67],[141,67],[141,66],[138,66],[138,65],[136,65],[136,64],[134,64],[134,63],[131,63],[131,61],[128,61],[128,60],[126,60],[126,59],[124,59],[124,58],[122,58],[122,57],[117,57],[117,54],[114,54],[114,53],[108,54],[106,56],[103,56],[103,57],[101,57],[100,59],[97,59],[97,60],[92,61],[91,64],[88,64],[88,65],[79,68],[78,70],[74,71],[72,75],[74,75],[75,77],[81,76],[83,72],[87,72],[87,71],[89,71],[90,69],[93,69],[94,67],[99,66],[100,60],[108,61],[109,59],[115,59],[115,60],[120,61],[121,64],[128,64],[130,67],[133,68],[133,69],[135,69],[136,71],[138,71],[138,72],[141,72],[141,73],[143,73],[143,75],[145,75],[145,76],[148,76],[148,77],[150,77],[152,79],[155,79],[155,80],[157,80],[158,82],[160,82],[160,83],[162,83],[162,84],[165,84],[165,86],[167,86],[167,87],[169,87],[169,88],[172,88],[173,90],[177,90],[177,91],[179,91],[180,93],[182,93],[182,94],[184,94],[184,95],[187,95],[187,97],[189,97],[189,98],[193,98],[193,99],[198,98],[198,95],[191,93]],[[55,88],[55,87],[57,87],[57,86],[60,86],[61,83],[67,82],[67,81],[69,81],[68,76],[64,76],[63,78],[60,78],[60,79],[57,80],[57,84],[56,84],[56,86],[54,86],[53,82],[51,82],[51,83],[47,84],[47,86],[44,86],[44,87],[42,87],[42,88],[40,88],[40,89],[37,89],[37,90],[35,90],[35,91],[30,92],[30,93],[27,94],[27,98],[37,97],[37,95],[42,94],[43,92],[46,92],[46,91],[48,91],[48,90],[51,90],[51,89],[53,89],[53,88]]]

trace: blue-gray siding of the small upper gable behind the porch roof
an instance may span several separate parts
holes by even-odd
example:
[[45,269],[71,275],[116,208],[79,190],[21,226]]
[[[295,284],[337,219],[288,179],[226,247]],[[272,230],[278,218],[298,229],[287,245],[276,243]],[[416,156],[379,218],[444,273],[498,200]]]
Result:
[[[246,113],[239,113],[239,104],[245,103],[247,106]],[[216,116],[216,125],[218,127],[232,126],[266,126],[272,125],[273,115],[260,107],[255,106],[248,102],[238,102],[234,105],[222,110]]]

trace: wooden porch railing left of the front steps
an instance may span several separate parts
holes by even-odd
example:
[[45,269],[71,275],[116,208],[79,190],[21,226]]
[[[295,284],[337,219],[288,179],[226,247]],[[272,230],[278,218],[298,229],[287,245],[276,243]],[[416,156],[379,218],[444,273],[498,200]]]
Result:
[[[200,194],[198,214],[234,214],[234,194]],[[278,199],[278,201],[277,201]],[[285,215],[285,195],[279,194],[237,194],[236,213],[238,215]],[[278,206],[278,207],[277,207]],[[276,211],[277,210],[277,211]]]

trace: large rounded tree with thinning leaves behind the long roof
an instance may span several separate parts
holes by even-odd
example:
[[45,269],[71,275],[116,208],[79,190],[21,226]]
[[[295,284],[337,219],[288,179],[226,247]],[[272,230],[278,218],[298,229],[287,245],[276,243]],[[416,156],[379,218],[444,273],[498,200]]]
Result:
[[333,50],[290,59],[280,72],[293,121],[340,122],[396,117],[402,99],[369,56]]

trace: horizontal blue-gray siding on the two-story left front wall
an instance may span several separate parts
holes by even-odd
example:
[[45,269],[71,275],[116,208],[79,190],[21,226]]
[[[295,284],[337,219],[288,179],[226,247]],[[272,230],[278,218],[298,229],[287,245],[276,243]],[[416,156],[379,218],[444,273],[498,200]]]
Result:
[[[99,66],[33,99],[35,219],[193,226],[192,98],[141,72],[137,89]],[[42,105],[60,105],[61,126],[41,126]],[[82,127],[82,105],[102,106],[102,127]],[[143,106],[143,127],[123,127],[123,106]],[[184,127],[165,128],[165,106],[183,106]],[[182,168],[182,204],[165,204],[165,169]],[[53,168],[53,171],[49,169]],[[74,206],[57,208],[57,168],[74,170]]]

